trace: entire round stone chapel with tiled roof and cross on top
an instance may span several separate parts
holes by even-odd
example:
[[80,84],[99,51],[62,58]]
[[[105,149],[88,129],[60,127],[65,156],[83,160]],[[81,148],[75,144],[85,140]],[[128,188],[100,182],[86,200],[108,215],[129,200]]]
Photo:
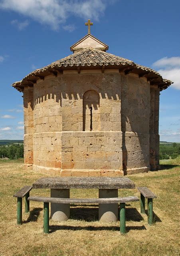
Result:
[[88,34],[12,86],[24,98],[24,167],[121,176],[159,166],[159,96],[172,82]]

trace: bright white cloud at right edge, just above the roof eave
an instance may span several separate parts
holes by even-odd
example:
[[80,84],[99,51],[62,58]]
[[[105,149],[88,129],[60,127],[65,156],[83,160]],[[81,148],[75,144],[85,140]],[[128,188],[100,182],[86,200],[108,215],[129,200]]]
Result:
[[180,90],[180,57],[164,57],[154,62],[153,66],[160,68],[158,72],[163,78],[174,82],[172,88]]

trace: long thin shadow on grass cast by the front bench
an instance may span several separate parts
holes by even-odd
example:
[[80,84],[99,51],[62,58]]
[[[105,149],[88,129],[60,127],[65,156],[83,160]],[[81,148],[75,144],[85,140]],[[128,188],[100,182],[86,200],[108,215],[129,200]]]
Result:
[[[99,226],[99,227],[95,227],[95,226],[59,226],[59,225],[51,225],[49,226],[49,233],[53,233],[56,230],[73,230],[73,231],[77,231],[77,230],[89,230],[89,231],[100,231],[100,230],[110,230],[110,231],[119,231],[119,227],[117,226]],[[130,230],[146,230],[145,226],[128,226],[126,227],[126,232],[129,232]]]

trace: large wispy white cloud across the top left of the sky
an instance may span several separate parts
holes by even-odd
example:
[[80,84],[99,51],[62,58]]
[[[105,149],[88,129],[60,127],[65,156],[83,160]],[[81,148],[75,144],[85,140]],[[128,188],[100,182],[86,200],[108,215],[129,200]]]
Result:
[[72,15],[99,20],[107,4],[107,0],[0,0],[1,9],[13,10],[53,29],[64,25]]

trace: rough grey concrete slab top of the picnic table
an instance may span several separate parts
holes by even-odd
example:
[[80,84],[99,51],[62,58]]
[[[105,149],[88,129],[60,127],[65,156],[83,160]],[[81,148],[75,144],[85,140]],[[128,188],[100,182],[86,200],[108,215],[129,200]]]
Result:
[[126,177],[49,177],[33,183],[33,188],[135,188],[135,183]]

